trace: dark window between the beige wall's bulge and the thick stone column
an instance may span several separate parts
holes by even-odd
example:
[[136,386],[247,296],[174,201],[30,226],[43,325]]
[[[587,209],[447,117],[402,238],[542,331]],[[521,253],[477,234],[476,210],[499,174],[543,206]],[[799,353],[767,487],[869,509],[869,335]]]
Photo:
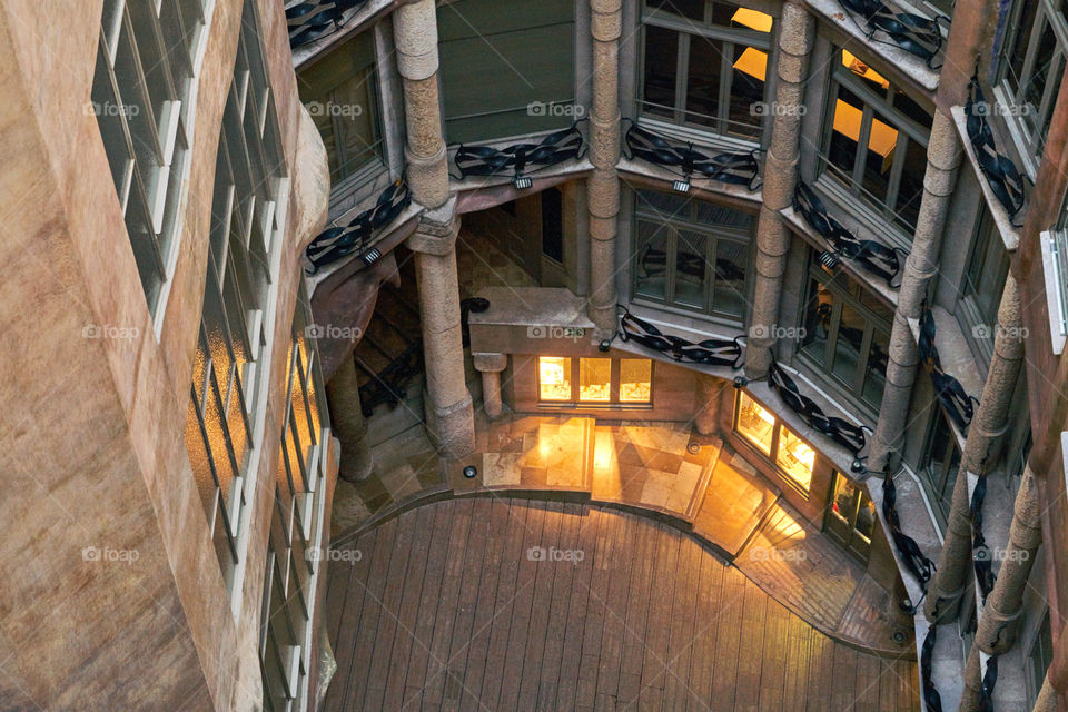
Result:
[[373,30],[301,70],[297,83],[300,101],[326,146],[332,187],[368,166],[383,165]]

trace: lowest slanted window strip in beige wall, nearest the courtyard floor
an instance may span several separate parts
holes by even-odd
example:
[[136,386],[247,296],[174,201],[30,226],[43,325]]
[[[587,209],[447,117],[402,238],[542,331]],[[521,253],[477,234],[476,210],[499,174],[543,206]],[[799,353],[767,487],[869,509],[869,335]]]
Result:
[[310,316],[301,283],[288,349],[261,610],[259,656],[268,711],[301,709],[295,703],[307,700],[312,606],[323,581],[329,415],[318,354],[306,337]]

